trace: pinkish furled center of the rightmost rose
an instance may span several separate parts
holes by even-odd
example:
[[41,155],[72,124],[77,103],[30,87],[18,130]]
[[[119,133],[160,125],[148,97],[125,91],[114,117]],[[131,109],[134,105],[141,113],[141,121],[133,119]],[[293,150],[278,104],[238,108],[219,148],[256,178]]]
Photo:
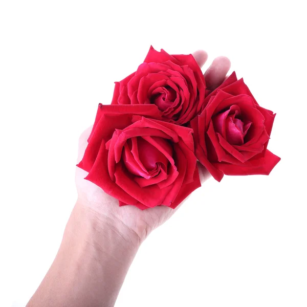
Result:
[[243,145],[244,138],[252,122],[245,120],[239,106],[232,105],[227,111],[212,117],[214,130],[231,145]]

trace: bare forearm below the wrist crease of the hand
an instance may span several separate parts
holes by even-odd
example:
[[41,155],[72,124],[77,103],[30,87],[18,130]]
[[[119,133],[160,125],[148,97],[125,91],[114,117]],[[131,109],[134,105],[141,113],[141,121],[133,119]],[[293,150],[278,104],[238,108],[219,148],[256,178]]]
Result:
[[139,246],[123,225],[77,204],[30,306],[113,306]]

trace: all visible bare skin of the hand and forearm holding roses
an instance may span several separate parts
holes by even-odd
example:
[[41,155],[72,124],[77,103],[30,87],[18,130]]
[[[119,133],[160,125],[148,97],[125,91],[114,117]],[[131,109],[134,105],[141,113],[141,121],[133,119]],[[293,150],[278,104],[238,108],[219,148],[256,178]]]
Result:
[[[200,67],[205,51],[193,53]],[[220,85],[230,68],[226,57],[215,58],[205,72],[210,89]],[[91,127],[79,139],[78,162],[82,159]],[[201,182],[210,177],[199,165]],[[176,209],[158,206],[140,210],[119,207],[118,200],[84,180],[76,168],[78,199],[65,227],[58,253],[27,307],[114,306],[127,271],[149,233],[162,225]],[[145,303],[146,304],[146,303]]]

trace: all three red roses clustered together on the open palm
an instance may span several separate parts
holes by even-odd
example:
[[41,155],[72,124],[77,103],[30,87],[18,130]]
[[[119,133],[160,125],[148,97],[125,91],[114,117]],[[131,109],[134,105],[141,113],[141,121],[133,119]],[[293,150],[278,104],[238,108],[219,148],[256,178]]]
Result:
[[197,161],[217,181],[269,174],[280,160],[267,149],[274,117],[234,72],[210,91],[191,54],[151,47],[99,104],[78,167],[120,206],[176,208],[201,186]]

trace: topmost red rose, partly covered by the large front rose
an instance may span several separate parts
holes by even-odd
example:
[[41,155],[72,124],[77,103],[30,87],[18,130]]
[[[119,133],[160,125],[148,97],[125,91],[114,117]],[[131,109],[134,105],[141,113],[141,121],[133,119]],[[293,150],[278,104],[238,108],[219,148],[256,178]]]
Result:
[[189,55],[169,55],[150,47],[137,71],[115,82],[112,104],[156,104],[162,120],[182,125],[199,113],[205,79]]

